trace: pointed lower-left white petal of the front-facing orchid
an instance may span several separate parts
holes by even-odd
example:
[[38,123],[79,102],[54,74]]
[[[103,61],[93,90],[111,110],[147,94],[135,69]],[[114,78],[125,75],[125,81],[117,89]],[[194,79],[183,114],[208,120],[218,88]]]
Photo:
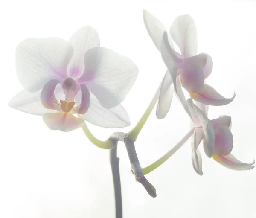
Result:
[[41,103],[41,90],[37,92],[21,91],[8,102],[8,105],[16,110],[31,113],[34,115],[43,115],[45,113],[56,113],[56,110],[49,110]]

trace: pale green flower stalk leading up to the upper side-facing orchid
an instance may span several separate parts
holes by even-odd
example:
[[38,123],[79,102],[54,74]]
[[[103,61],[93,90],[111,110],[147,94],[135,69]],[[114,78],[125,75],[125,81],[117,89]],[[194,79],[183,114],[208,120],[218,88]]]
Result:
[[[161,86],[161,85],[160,85]],[[160,92],[160,86],[158,87],[156,93],[154,94],[154,97],[152,98],[151,102],[148,105],[148,108],[143,113],[142,117],[140,118],[139,122],[134,126],[134,128],[127,134],[127,137],[135,142],[137,140],[138,135],[140,134],[140,131],[142,130],[143,126],[145,125],[145,122],[148,120],[149,115],[151,114],[152,110],[154,109],[154,106],[157,103],[159,92]]]

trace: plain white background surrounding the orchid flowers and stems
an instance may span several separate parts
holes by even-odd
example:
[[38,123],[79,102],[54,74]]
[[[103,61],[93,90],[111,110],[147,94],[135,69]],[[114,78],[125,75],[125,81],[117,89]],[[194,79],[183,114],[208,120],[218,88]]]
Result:
[[[90,143],[81,129],[50,131],[40,116],[14,110],[9,99],[22,90],[15,73],[15,47],[31,37],[69,37],[93,26],[101,45],[130,57],[140,69],[123,102],[135,125],[157,89],[166,67],[146,32],[147,9],[169,29],[174,18],[189,13],[198,29],[198,52],[213,58],[207,83],[226,97],[226,106],[210,107],[209,118],[232,116],[234,148],[241,161],[256,158],[255,48],[256,4],[241,1],[5,1],[1,3],[0,217],[114,217],[108,151]],[[89,125],[105,140],[114,130]],[[131,126],[132,127],[132,126]],[[121,131],[128,132],[131,127]],[[120,131],[120,129],[119,129]],[[142,166],[165,154],[189,131],[189,119],[176,98],[163,120],[155,109],[136,142]],[[201,146],[200,146],[201,147]],[[202,151],[204,175],[192,168],[187,142],[147,179],[157,189],[151,198],[131,174],[120,143],[124,218],[255,218],[256,171],[232,171]]]

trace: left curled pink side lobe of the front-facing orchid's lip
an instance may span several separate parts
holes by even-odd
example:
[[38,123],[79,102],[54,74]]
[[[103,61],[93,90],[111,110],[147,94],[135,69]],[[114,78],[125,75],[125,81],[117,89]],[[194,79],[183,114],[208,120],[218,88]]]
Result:
[[47,109],[61,111],[61,106],[54,94],[54,90],[58,83],[59,81],[57,79],[52,79],[45,84],[41,91],[41,103]]

